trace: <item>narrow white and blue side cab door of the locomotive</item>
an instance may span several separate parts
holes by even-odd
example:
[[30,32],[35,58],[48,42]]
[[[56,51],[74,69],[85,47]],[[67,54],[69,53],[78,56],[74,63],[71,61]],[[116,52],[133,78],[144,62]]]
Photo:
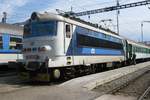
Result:
[[[73,64],[73,25],[65,23],[65,54],[66,56],[69,56],[67,58],[67,62],[70,61],[71,64]],[[70,58],[71,57],[71,58]],[[69,63],[68,63],[69,64]]]

